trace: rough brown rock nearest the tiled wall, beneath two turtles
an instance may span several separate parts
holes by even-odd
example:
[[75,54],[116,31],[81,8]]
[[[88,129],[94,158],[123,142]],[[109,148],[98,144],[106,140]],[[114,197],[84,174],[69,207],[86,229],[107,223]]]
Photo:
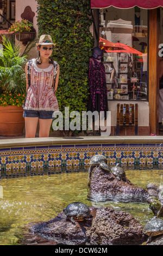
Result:
[[[117,168],[117,167],[116,167]],[[117,179],[117,175],[122,168],[117,170],[105,170],[101,167],[95,167],[91,171],[91,180],[89,188],[89,199],[95,202],[102,202],[106,200],[116,202],[144,202],[148,197],[145,189],[136,187],[122,175],[122,179]]]

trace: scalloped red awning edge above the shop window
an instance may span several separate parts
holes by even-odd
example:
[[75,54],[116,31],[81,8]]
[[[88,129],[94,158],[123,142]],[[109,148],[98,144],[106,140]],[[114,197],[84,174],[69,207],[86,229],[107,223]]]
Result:
[[138,6],[143,9],[154,9],[158,7],[163,7],[162,0],[91,0],[91,8],[108,8],[110,6],[120,8],[120,9],[128,9]]

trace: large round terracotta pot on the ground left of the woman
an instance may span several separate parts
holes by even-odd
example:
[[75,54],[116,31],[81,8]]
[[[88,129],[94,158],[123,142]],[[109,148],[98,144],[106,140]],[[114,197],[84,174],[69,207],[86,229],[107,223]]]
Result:
[[23,129],[23,107],[0,106],[0,136],[21,136]]

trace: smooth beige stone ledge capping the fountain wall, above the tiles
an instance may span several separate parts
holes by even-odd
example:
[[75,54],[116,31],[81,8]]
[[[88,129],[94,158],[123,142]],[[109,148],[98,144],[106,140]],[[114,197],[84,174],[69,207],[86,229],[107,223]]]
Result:
[[163,136],[107,136],[107,137],[48,137],[48,138],[16,138],[2,139],[0,149],[29,147],[29,146],[50,146],[50,145],[78,145],[78,144],[160,144],[163,143]]

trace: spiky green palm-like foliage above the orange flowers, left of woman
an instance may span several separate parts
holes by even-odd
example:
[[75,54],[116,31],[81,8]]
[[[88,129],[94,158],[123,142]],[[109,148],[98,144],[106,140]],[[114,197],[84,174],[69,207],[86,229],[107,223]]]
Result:
[[0,93],[26,93],[26,76],[22,68],[26,62],[27,56],[20,57],[19,45],[11,44],[4,36],[0,54]]

